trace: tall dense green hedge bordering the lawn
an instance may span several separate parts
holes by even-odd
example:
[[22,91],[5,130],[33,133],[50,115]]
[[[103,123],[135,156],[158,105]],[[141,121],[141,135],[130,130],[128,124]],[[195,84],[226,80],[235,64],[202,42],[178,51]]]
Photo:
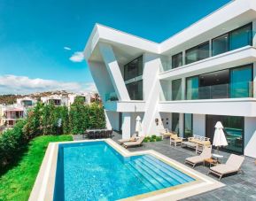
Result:
[[[13,129],[0,135],[0,170],[19,159],[27,143],[37,135],[82,134],[87,128],[105,128],[105,112],[99,104],[83,104],[76,99],[66,106],[38,103]],[[0,174],[1,174],[0,171]]]

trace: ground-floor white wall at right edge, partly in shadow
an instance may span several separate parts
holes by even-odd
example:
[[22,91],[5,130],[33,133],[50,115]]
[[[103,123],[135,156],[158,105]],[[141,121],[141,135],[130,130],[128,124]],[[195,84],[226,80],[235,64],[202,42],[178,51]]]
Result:
[[256,158],[256,117],[244,118],[244,155]]

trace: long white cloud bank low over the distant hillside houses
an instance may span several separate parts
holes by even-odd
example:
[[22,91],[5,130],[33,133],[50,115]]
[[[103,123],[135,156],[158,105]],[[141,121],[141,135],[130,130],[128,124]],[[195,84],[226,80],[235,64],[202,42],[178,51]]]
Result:
[[65,82],[30,79],[26,76],[4,75],[0,76],[0,94],[30,94],[35,92],[66,90],[68,92],[97,91],[93,82]]

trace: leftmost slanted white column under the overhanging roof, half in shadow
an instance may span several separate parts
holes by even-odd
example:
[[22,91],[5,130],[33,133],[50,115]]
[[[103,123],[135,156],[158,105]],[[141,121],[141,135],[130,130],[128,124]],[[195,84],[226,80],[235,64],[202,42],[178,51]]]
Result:
[[128,90],[120,73],[120,67],[114,56],[112,46],[109,44],[100,43],[99,50],[104,59],[106,69],[110,75],[117,97],[119,100],[130,100]]

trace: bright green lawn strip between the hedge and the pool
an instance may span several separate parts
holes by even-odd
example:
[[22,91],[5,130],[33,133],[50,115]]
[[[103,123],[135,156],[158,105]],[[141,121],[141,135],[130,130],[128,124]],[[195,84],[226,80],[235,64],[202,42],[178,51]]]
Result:
[[17,166],[0,177],[0,200],[27,200],[33,188],[43,156],[50,142],[72,141],[71,135],[44,135],[28,144]]

